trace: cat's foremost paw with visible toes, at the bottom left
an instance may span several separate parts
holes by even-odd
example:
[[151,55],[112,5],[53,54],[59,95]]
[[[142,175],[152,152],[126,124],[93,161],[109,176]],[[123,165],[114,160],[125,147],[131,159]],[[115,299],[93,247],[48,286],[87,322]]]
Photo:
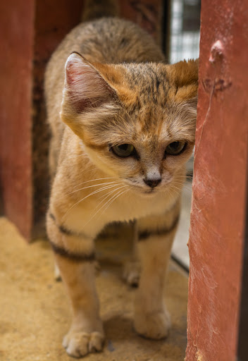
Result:
[[90,334],[82,331],[69,331],[63,338],[63,347],[68,355],[82,357],[87,353],[95,353],[102,350],[104,335],[95,331]]

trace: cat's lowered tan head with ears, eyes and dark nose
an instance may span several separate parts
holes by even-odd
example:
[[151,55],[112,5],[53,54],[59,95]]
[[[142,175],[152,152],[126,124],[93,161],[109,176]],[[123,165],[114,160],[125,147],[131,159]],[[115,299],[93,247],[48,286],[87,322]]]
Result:
[[62,120],[108,176],[141,192],[163,190],[194,147],[198,61],[66,62]]

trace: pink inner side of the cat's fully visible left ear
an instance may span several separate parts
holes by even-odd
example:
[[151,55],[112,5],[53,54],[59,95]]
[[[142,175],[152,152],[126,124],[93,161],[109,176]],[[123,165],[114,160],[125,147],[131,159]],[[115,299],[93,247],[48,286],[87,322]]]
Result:
[[77,112],[100,106],[111,97],[106,80],[77,54],[71,54],[66,62],[66,90]]

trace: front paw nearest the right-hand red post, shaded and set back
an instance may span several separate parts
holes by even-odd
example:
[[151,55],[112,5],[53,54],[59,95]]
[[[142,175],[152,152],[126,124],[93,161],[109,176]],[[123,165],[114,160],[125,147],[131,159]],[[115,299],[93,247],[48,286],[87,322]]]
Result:
[[168,336],[171,326],[171,317],[167,311],[136,312],[135,331],[146,338],[160,340]]

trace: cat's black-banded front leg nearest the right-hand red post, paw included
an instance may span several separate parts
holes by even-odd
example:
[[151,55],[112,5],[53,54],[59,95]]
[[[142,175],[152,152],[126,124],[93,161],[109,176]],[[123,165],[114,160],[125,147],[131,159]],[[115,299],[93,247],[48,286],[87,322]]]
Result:
[[178,202],[166,214],[137,221],[141,276],[135,298],[135,329],[147,338],[164,338],[171,326],[163,297],[179,212]]

